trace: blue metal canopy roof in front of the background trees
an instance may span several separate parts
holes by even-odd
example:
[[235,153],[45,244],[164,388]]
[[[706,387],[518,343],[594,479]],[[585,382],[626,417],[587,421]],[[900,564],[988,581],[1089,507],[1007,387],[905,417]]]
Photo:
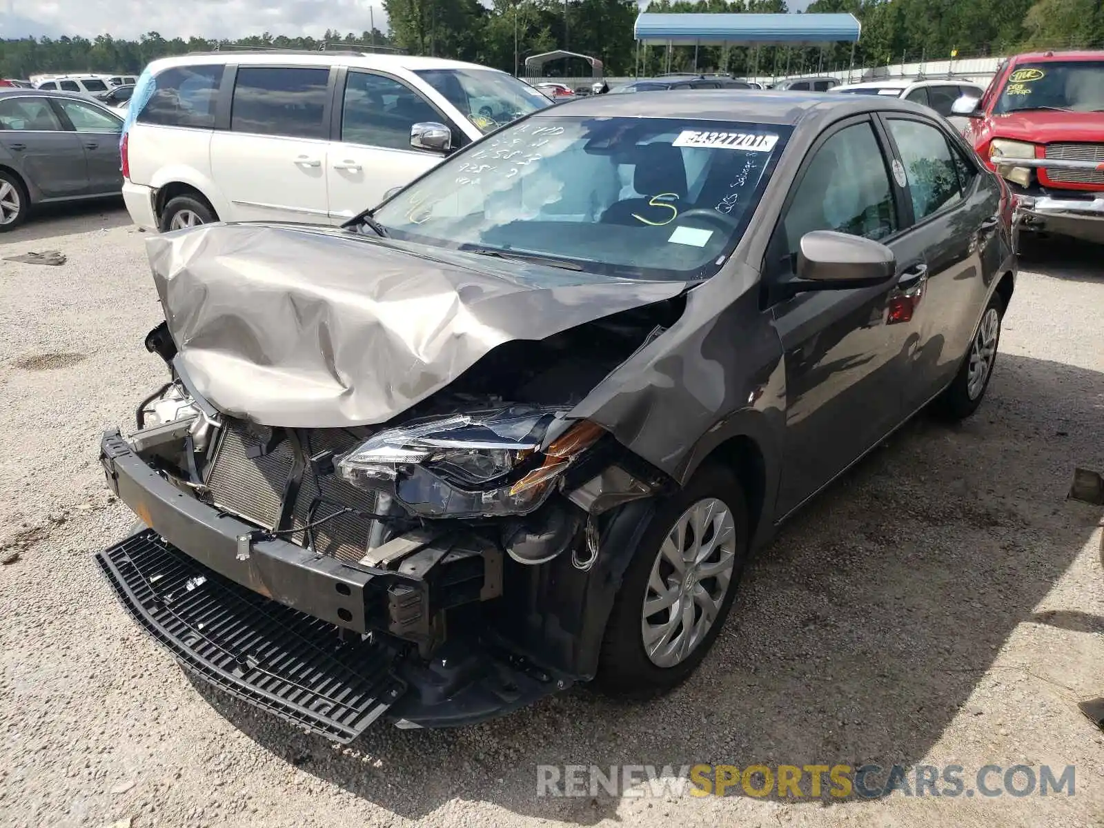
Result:
[[853,14],[655,14],[641,13],[633,33],[643,43],[798,46],[859,40]]

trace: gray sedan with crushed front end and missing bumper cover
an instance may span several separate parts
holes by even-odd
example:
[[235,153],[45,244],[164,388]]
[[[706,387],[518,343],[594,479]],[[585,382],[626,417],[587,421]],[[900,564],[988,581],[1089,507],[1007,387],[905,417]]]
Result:
[[151,238],[170,376],[104,436],[140,523],[97,560],[341,742],[661,692],[789,513],[980,403],[1010,220],[923,107],[698,92],[537,113],[343,229]]

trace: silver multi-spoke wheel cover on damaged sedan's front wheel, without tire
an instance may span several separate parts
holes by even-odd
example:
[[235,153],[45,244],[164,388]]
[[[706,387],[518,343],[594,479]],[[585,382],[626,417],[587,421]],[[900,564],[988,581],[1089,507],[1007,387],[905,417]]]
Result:
[[657,667],[675,667],[701,645],[721,613],[736,563],[729,507],[703,498],[682,512],[651,565],[640,633]]

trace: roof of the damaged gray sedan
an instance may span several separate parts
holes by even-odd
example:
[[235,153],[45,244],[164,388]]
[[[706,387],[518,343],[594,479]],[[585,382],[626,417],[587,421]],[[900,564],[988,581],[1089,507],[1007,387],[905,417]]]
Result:
[[796,126],[814,113],[839,117],[872,109],[927,113],[927,107],[873,95],[825,95],[821,92],[693,89],[668,95],[594,95],[541,109],[533,118],[578,117],[686,118]]

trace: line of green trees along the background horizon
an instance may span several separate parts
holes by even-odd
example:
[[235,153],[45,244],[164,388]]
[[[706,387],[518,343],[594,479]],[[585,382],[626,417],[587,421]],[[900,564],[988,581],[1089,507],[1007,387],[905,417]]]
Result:
[[[1023,49],[1104,46],[1104,0],[814,0],[808,12],[851,12],[862,39],[822,49],[758,50],[745,46],[677,46],[638,50],[633,40],[635,0],[383,0],[390,32],[364,30],[322,38],[238,40],[163,39],[148,32],[137,41],[99,35],[0,41],[0,75],[41,72],[138,73],[149,61],[188,52],[235,49],[401,50],[470,61],[524,74],[524,59],[566,49],[601,59],[611,76],[665,71],[795,74],[912,61],[995,55]],[[652,0],[655,12],[785,12],[785,0]],[[582,61],[550,64],[548,72],[590,74]]]

